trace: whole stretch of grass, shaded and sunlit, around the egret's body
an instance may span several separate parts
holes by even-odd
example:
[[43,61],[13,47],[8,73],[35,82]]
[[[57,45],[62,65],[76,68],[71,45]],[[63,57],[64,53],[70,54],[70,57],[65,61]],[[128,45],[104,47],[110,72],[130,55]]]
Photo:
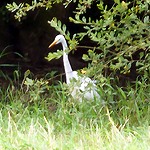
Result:
[[150,85],[99,88],[105,103],[79,103],[58,86],[34,80],[0,89],[0,149],[148,150]]

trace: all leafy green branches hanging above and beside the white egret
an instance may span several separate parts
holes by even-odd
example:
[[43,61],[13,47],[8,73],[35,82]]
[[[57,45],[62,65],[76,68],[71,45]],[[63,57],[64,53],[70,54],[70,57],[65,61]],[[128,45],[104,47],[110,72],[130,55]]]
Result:
[[[51,8],[54,3],[61,1],[33,1],[32,5],[21,3],[19,5],[8,4],[7,8],[14,12],[16,18],[26,15],[25,12],[34,10],[35,7]],[[64,34],[69,41],[69,48],[75,49],[79,41],[89,37],[95,43],[90,48],[88,55],[84,54],[85,61],[91,61],[90,70],[101,72],[110,70],[114,74],[130,74],[132,69],[137,75],[144,75],[149,78],[150,74],[150,24],[149,24],[149,1],[124,2],[114,0],[114,5],[109,9],[102,0],[95,1],[66,1],[67,7],[70,3],[78,3],[75,17],[70,21],[80,24],[83,32],[74,34],[72,40],[70,33],[61,21],[54,18],[48,23],[57,31]],[[86,12],[96,5],[100,16],[96,19],[88,16]],[[19,15],[18,15],[19,13]],[[87,45],[86,45],[87,46]],[[59,58],[62,53],[50,53],[48,60]],[[132,68],[132,65],[135,67]],[[95,67],[97,66],[97,67]],[[92,69],[91,69],[92,68]]]

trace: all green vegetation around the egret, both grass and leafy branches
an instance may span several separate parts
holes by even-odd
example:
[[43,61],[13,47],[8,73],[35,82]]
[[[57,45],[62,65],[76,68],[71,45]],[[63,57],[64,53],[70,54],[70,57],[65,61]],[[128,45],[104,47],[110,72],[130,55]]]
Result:
[[[67,2],[66,7],[76,0]],[[54,3],[62,1],[13,3],[7,8],[21,21],[29,10],[49,9]],[[96,19],[86,14],[95,3],[78,2],[70,21],[80,24],[83,31],[72,37],[57,18],[49,24],[66,36],[69,51],[85,37],[94,42],[83,54],[90,62],[84,71],[94,74],[103,100],[79,103],[65,84],[31,79],[27,71],[18,87],[11,82],[0,88],[0,149],[150,149],[149,1],[114,0],[111,8],[97,1],[100,17]],[[49,53],[47,59],[61,55],[61,51]],[[118,74],[127,77],[133,70],[135,80],[122,86]]]

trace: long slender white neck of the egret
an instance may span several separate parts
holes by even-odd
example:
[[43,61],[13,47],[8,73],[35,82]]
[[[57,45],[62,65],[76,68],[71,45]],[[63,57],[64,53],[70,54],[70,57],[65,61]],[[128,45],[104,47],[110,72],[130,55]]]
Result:
[[65,73],[66,73],[66,81],[67,83],[69,83],[69,79],[70,79],[69,74],[72,72],[72,68],[68,59],[68,55],[65,52],[65,50],[68,48],[65,40],[63,41],[62,46],[63,46],[63,64],[64,64]]

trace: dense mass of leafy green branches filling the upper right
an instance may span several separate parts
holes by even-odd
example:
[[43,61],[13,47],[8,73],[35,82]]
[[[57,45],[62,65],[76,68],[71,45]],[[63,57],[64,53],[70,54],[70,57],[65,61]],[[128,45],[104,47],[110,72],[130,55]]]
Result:
[[[131,8],[128,5],[129,3],[124,1],[121,3],[117,1],[111,9],[108,9],[107,6],[104,7],[103,2],[100,2],[97,5],[101,11],[99,19],[94,21],[90,17],[82,17],[80,14],[84,12],[79,11],[75,19],[70,18],[70,20],[84,26],[85,32],[78,34],[80,39],[88,36],[97,43],[97,48],[102,50],[97,61],[99,62],[100,59],[106,68],[126,74],[135,62],[138,74],[143,74],[145,71],[148,73],[150,69],[148,1],[144,3],[139,1]],[[139,17],[140,14],[143,16],[142,19]],[[136,58],[134,54],[137,55]],[[86,56],[85,60],[90,58]]]

